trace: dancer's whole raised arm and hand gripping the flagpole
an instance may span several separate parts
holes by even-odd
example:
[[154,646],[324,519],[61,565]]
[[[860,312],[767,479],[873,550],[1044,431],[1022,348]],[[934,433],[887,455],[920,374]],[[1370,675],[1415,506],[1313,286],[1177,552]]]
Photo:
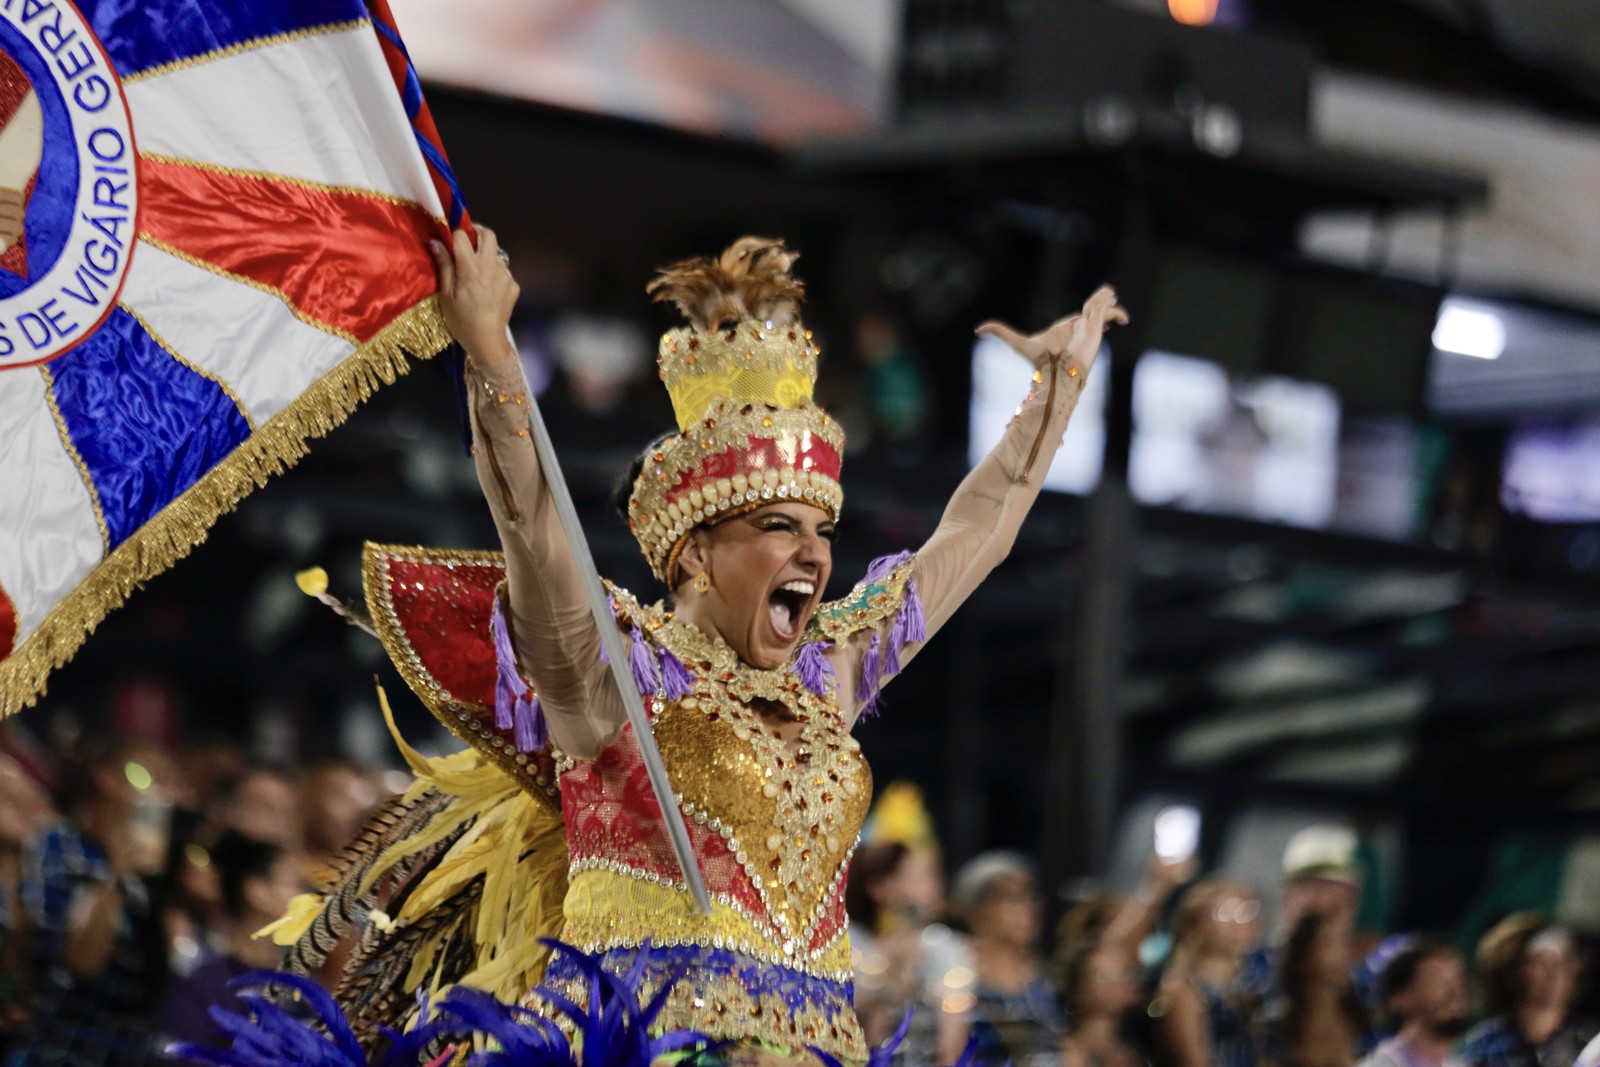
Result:
[[555,747],[590,758],[616,739],[622,699],[600,662],[600,632],[533,445],[533,398],[506,333],[518,288],[493,232],[480,226],[475,250],[461,230],[453,243],[432,248],[440,309],[467,350],[474,464],[506,553],[512,648]]

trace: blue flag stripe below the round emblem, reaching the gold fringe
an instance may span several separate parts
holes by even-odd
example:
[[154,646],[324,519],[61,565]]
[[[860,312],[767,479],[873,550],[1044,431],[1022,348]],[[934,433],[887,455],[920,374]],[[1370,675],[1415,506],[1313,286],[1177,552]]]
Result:
[[114,549],[250,437],[221,386],[174,360],[120,307],[50,373]]

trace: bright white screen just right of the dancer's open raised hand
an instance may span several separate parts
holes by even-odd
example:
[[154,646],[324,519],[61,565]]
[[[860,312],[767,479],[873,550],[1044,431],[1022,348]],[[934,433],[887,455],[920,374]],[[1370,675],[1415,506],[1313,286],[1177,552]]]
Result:
[[1128,486],[1144,504],[1326,526],[1339,400],[1326,386],[1230,381],[1216,363],[1146,352],[1133,379]]

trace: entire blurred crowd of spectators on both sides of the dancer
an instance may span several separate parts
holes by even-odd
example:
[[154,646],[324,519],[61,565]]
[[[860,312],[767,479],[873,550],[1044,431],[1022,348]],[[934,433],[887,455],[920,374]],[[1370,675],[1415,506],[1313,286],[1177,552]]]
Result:
[[[3,1067],[221,1043],[208,1006],[283,958],[254,934],[325,883],[384,795],[346,760],[3,741]],[[1338,827],[1290,843],[1272,929],[1253,888],[1197,873],[1152,857],[1131,894],[1078,893],[1046,952],[1029,861],[987,853],[947,888],[920,797],[891,785],[846,886],[867,1037],[904,1029],[906,1067],[968,1049],[978,1067],[1594,1067],[1579,942],[1538,915],[1502,918],[1470,958],[1427,933],[1363,934],[1357,841]]]

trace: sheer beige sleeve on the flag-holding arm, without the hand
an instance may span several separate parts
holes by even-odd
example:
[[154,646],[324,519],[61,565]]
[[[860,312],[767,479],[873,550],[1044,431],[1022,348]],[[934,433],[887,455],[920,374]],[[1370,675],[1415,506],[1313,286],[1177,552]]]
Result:
[[539,469],[522,368],[472,366],[467,394],[478,483],[506,553],[506,621],[517,662],[539,694],[555,747],[592,758],[616,739],[626,712],[600,662],[600,632]]

